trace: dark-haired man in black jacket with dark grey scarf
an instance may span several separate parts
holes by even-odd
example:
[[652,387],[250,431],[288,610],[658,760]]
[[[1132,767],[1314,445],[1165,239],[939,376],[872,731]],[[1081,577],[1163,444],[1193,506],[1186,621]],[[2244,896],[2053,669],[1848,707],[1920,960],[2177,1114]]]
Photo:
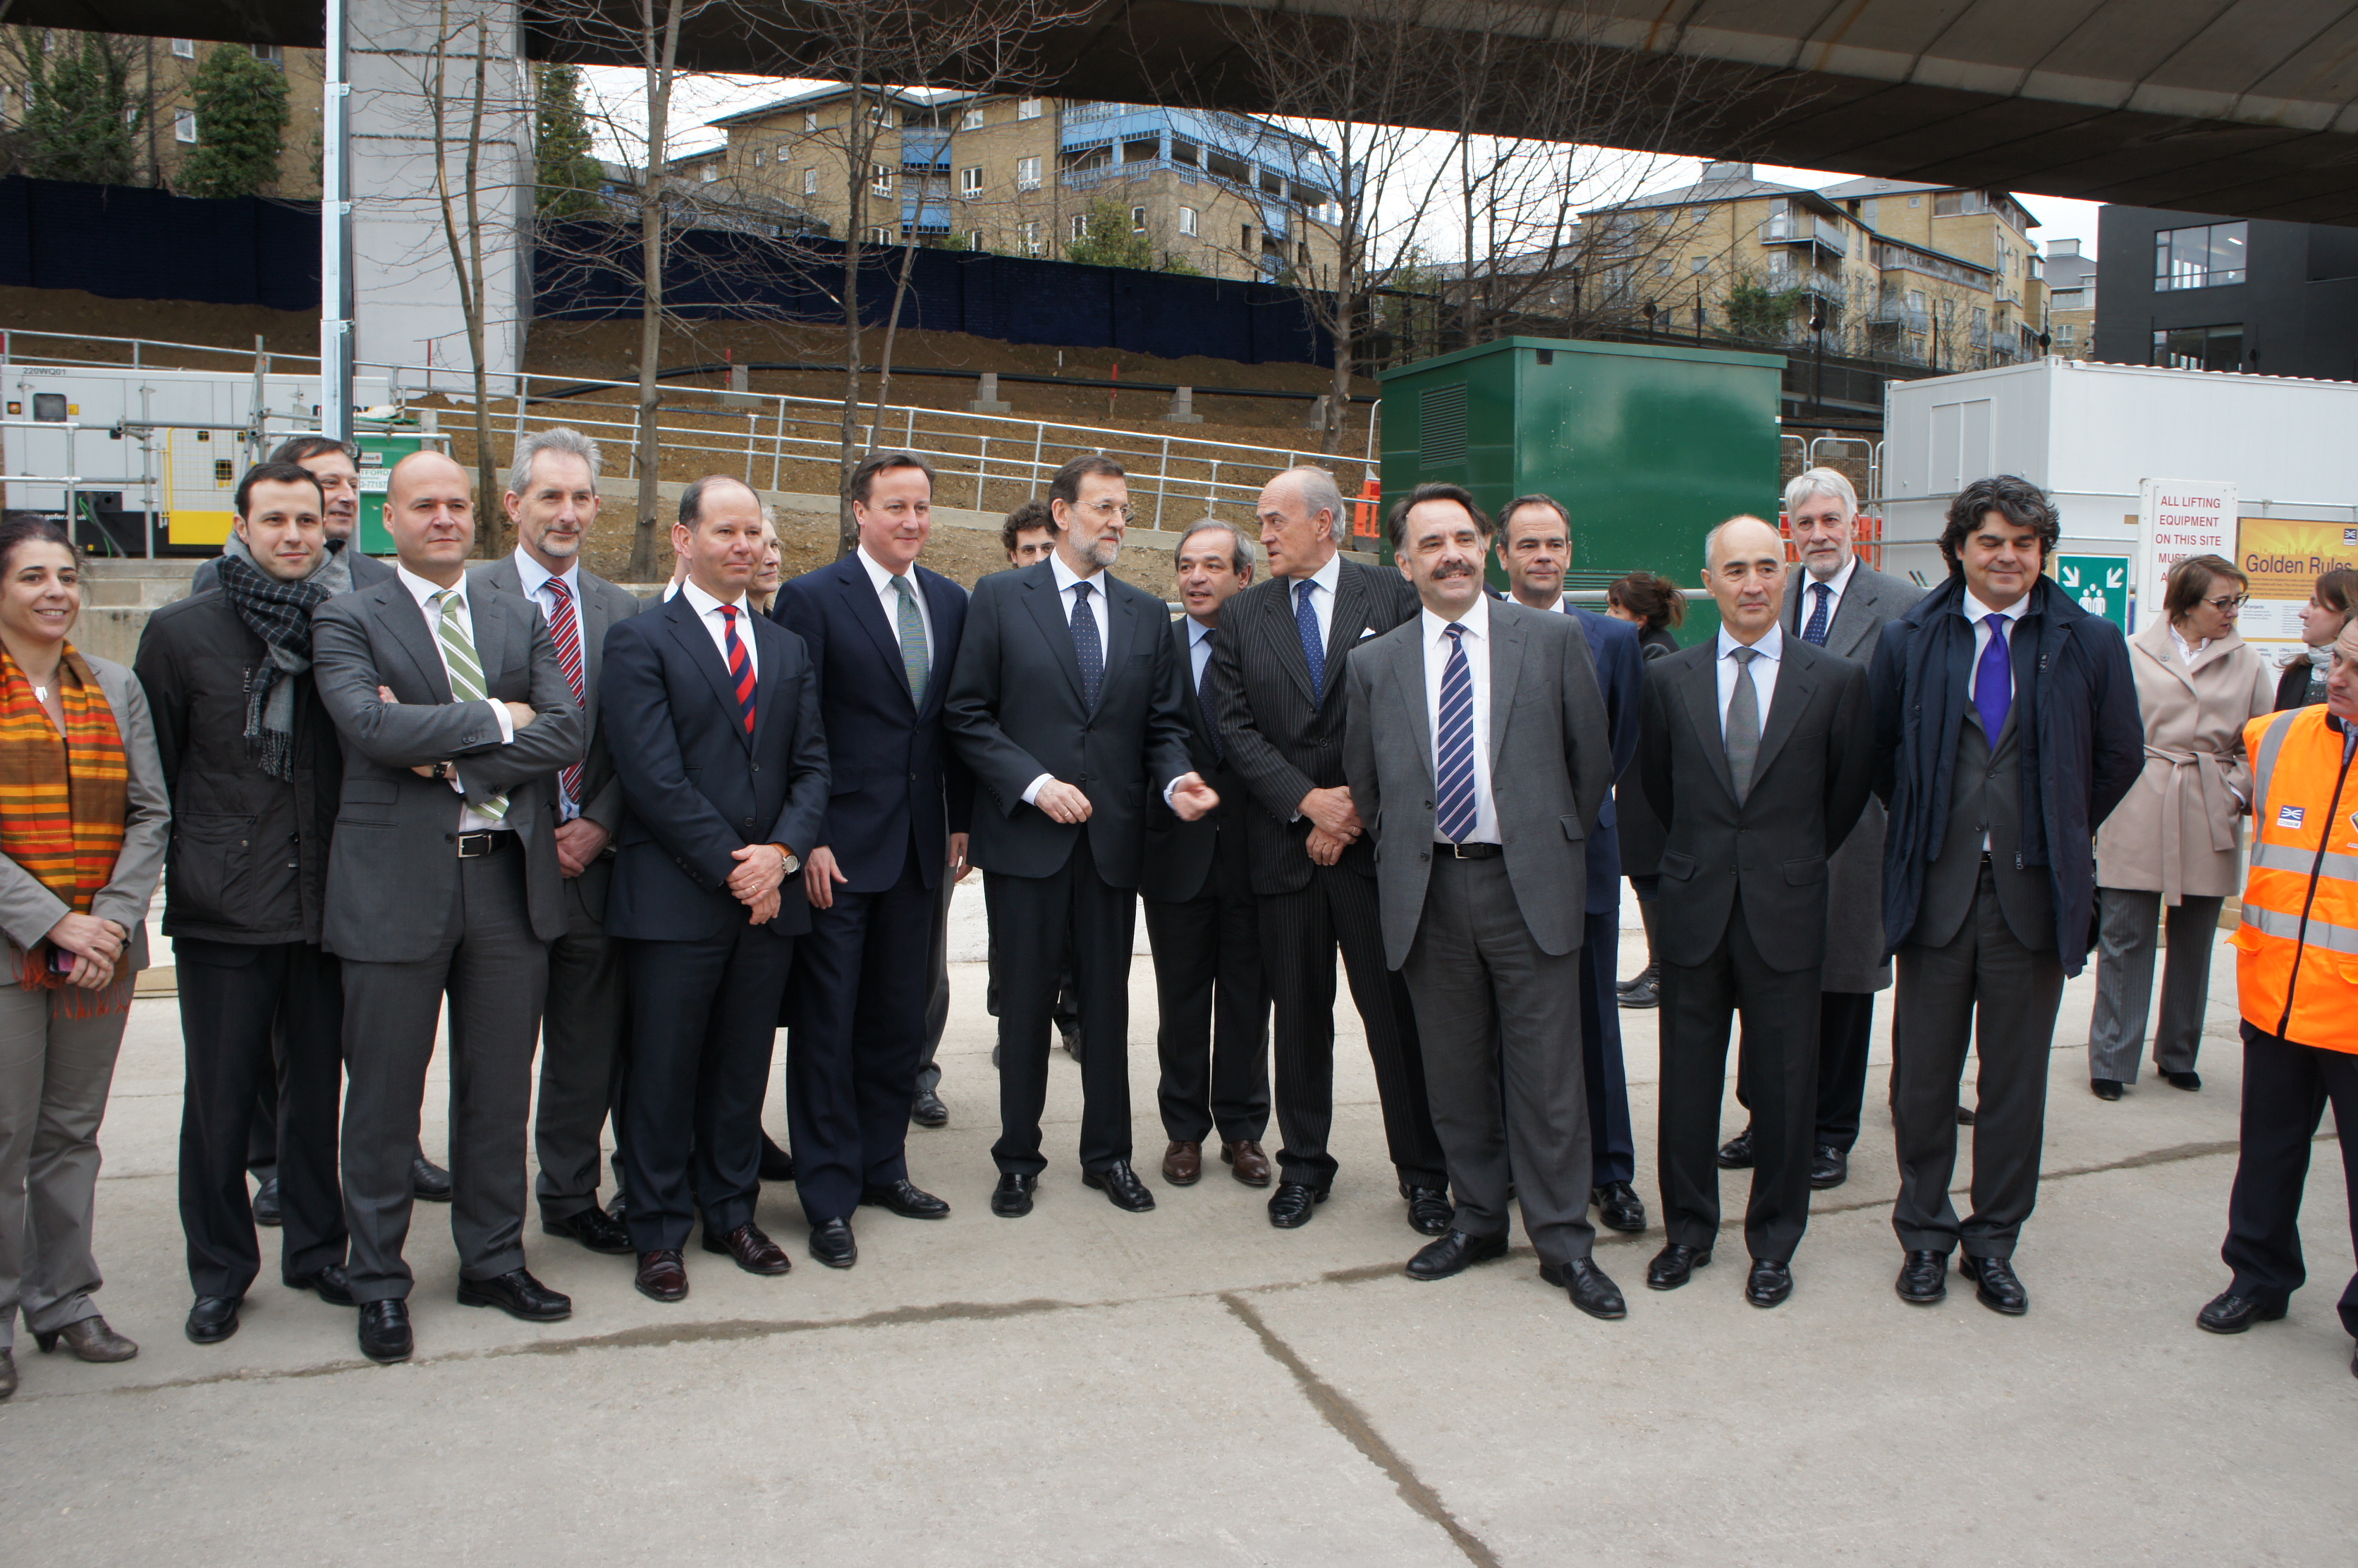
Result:
[[344,986],[321,948],[344,769],[311,686],[311,611],[351,587],[351,568],[325,547],[323,512],[318,479],[302,467],[250,469],[219,592],[156,611],[134,665],[174,804],[163,929],[179,964],[189,1061],[179,1221],[196,1344],[238,1332],[238,1304],[262,1269],[245,1141],[255,1096],[274,1080],[278,1273],[292,1290],[351,1306],[335,1151]]

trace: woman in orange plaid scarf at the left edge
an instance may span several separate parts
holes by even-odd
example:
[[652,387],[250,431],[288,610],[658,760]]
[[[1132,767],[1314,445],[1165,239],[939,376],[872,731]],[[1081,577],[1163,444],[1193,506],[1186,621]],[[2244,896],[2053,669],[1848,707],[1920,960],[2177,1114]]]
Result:
[[80,613],[66,531],[0,523],[0,1398],[19,1311],[42,1351],[139,1353],[90,1299],[90,1219],[172,809],[139,681],[66,641]]

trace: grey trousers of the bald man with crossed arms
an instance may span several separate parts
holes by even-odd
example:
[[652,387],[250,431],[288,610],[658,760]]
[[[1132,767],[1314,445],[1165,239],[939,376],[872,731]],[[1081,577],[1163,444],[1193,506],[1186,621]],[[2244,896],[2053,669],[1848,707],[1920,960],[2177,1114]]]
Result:
[[523,1122],[549,948],[533,936],[523,851],[460,861],[441,943],[415,964],[344,960],[344,1219],[351,1294],[410,1294],[410,1155],[450,997],[450,1238],[465,1278],[523,1269]]

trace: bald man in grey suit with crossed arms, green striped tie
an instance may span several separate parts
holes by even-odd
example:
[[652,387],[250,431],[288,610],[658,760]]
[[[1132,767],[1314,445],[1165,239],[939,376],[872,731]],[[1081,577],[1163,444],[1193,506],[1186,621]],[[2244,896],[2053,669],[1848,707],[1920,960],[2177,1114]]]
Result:
[[566,931],[552,773],[582,717],[540,613],[467,582],[467,472],[410,453],[387,488],[396,580],[311,618],[311,677],[344,740],[325,946],[344,960],[344,1219],[361,1353],[410,1356],[410,1153],[450,997],[450,1233],[465,1306],[549,1323],[523,1269],[523,1113]]

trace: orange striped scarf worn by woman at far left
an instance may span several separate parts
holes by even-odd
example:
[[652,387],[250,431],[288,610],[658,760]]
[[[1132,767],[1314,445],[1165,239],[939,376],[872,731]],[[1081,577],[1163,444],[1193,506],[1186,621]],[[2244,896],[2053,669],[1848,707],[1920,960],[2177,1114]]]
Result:
[[[116,710],[73,644],[57,663],[57,700],[64,736],[33,696],[33,681],[0,648],[0,854],[87,915],[123,854],[130,762]],[[17,983],[26,990],[66,983],[50,971],[47,948],[33,943],[24,955]]]

